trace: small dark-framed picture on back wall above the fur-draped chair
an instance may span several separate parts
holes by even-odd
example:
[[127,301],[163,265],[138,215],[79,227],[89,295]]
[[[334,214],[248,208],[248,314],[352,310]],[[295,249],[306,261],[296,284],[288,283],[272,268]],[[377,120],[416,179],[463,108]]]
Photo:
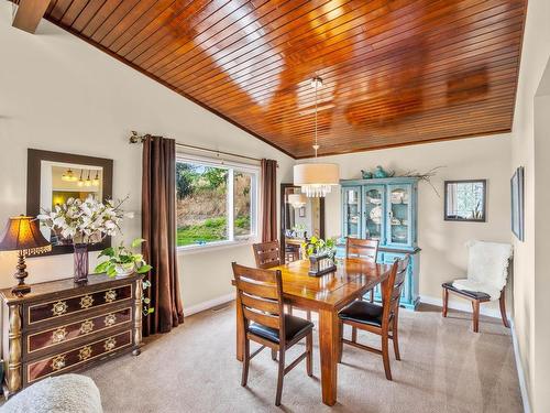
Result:
[[444,182],[446,221],[485,222],[486,204],[486,180]]

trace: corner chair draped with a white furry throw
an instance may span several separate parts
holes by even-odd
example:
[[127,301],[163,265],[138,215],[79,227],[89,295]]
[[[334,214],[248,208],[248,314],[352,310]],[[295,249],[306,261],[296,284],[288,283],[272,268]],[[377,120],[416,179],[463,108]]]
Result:
[[447,317],[449,293],[455,294],[472,303],[473,332],[480,332],[480,304],[498,301],[501,317],[506,328],[509,328],[506,316],[506,280],[513,257],[509,243],[471,240],[468,247],[466,279],[443,283],[442,315]]

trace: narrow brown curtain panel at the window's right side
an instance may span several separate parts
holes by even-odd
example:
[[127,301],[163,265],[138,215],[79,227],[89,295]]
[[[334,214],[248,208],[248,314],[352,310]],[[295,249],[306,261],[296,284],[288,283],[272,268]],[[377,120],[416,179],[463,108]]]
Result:
[[277,161],[262,160],[262,242],[277,239]]

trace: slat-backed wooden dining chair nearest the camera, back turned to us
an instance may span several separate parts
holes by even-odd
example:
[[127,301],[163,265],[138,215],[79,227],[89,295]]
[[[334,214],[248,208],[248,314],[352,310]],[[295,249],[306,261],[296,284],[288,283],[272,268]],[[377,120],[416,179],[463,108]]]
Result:
[[[272,358],[278,354],[278,379],[275,405],[280,405],[283,379],[301,360],[306,359],[306,371],[314,376],[314,324],[304,318],[284,314],[283,281],[280,270],[263,270],[233,265],[237,293],[239,294],[242,320],[244,325],[244,359],[241,385],[245,387],[249,378],[250,360],[265,347],[272,349]],[[306,338],[306,351],[285,367],[285,352],[296,343]],[[261,347],[250,354],[250,341]]]

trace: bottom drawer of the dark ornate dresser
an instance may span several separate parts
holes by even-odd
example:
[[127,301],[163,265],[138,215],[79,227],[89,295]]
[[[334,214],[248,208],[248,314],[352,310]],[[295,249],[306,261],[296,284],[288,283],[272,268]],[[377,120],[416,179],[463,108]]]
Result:
[[25,385],[45,377],[66,372],[82,365],[107,357],[113,351],[132,346],[132,330],[94,340],[70,351],[59,352],[26,365]]

